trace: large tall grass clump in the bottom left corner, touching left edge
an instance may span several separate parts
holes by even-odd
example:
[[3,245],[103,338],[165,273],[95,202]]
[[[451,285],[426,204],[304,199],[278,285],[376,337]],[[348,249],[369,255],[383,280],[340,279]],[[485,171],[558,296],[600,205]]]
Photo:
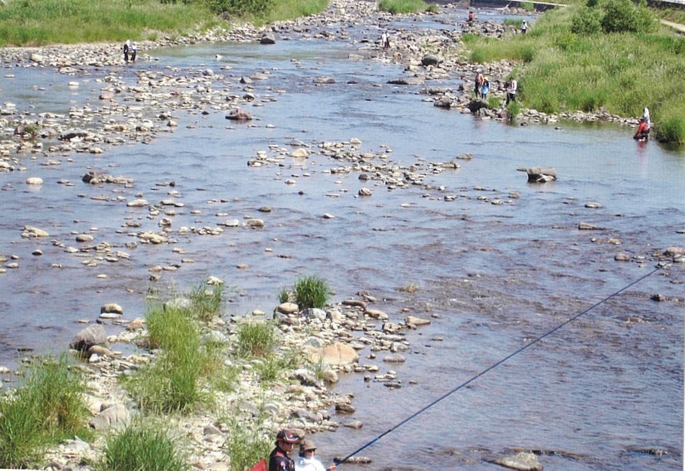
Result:
[[83,373],[66,355],[28,367],[23,386],[0,398],[0,467],[24,468],[48,445],[90,436],[86,391]]

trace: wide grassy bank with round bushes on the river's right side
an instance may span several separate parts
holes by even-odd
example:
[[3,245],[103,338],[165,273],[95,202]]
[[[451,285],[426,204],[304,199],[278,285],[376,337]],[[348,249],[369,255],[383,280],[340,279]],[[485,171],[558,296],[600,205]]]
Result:
[[464,42],[474,62],[518,61],[514,75],[527,108],[636,117],[647,106],[654,136],[685,144],[685,38],[661,28],[646,10],[626,19],[597,8],[559,8],[542,15],[527,35],[466,35]]

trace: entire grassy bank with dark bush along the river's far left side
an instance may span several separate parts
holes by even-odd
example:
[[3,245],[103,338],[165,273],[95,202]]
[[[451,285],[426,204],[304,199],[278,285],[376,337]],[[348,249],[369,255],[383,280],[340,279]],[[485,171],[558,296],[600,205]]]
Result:
[[224,18],[264,24],[327,6],[328,0],[6,0],[0,47],[156,40],[230,27]]

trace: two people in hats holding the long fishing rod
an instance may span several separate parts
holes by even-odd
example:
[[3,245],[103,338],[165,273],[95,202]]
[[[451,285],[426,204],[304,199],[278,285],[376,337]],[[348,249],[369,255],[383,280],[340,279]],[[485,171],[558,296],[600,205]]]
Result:
[[[300,446],[297,461],[290,456],[296,444]],[[269,454],[267,471],[335,471],[335,464],[325,468],[323,463],[314,456],[315,453],[316,446],[312,440],[304,440],[290,429],[281,430],[276,435],[276,447]]]

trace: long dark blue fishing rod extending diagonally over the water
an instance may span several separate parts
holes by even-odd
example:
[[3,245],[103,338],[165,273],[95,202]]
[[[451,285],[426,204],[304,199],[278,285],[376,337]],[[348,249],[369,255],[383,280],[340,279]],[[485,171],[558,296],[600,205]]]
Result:
[[557,325],[557,326],[554,327],[553,329],[548,330],[547,332],[545,332],[545,333],[542,334],[541,336],[539,336],[539,337],[537,337],[536,339],[532,340],[530,343],[527,343],[527,344],[523,345],[523,347],[519,348],[518,350],[514,351],[513,353],[510,353],[510,354],[508,354],[506,357],[500,359],[499,361],[496,361],[496,362],[493,363],[491,366],[485,368],[484,370],[481,370],[479,373],[477,373],[476,375],[474,375],[474,376],[472,376],[471,378],[467,379],[467,380],[466,380],[465,382],[463,382],[462,384],[459,384],[459,386],[457,386],[457,387],[451,389],[450,391],[444,393],[443,395],[441,395],[440,397],[438,397],[436,400],[434,400],[434,401],[431,402],[430,404],[428,404],[428,405],[424,406],[423,408],[419,409],[418,411],[414,412],[411,416],[405,418],[404,420],[402,420],[402,421],[399,422],[398,424],[394,425],[394,427],[391,427],[390,429],[388,429],[387,431],[384,431],[382,434],[380,434],[380,435],[377,436],[376,438],[373,438],[373,440],[367,442],[367,443],[366,443],[365,445],[363,445],[362,447],[359,447],[359,448],[355,449],[354,452],[348,454],[348,455],[345,456],[343,459],[334,460],[334,461],[335,461],[335,464],[336,464],[336,465],[341,465],[341,464],[345,463],[346,461],[348,461],[348,459],[350,459],[350,458],[352,458],[353,456],[355,456],[355,454],[361,452],[363,449],[366,449],[367,447],[370,447],[371,445],[373,445],[373,443],[376,443],[378,440],[380,440],[381,438],[383,438],[383,437],[386,436],[387,434],[391,434],[392,432],[396,431],[398,428],[402,427],[402,426],[405,425],[407,422],[409,422],[409,420],[412,420],[412,419],[416,418],[417,416],[420,416],[420,415],[421,415],[422,413],[424,413],[425,411],[428,411],[428,409],[430,409],[432,406],[438,404],[439,402],[441,402],[442,400],[446,399],[446,398],[449,397],[450,395],[453,395],[454,393],[456,393],[457,391],[459,391],[459,389],[462,389],[462,388],[464,388],[465,386],[468,386],[468,384],[473,383],[476,379],[482,377],[482,376],[485,375],[487,372],[490,372],[490,371],[494,370],[495,368],[497,368],[498,366],[500,366],[502,363],[505,363],[505,361],[509,361],[510,359],[516,357],[516,355],[520,354],[520,353],[523,352],[524,350],[527,350],[527,348],[532,347],[532,345],[535,345],[535,344],[538,343],[539,341],[541,341],[541,340],[545,339],[546,337],[548,337],[548,336],[554,334],[555,332],[557,332],[557,330],[562,329],[563,327],[566,327],[566,325],[572,323],[572,322],[573,322],[574,320],[576,320],[577,318],[580,318],[580,316],[584,316],[585,314],[587,314],[587,313],[588,313],[589,311],[591,311],[592,309],[595,309],[595,307],[598,307],[599,305],[604,304],[604,302],[607,302],[607,301],[610,300],[611,298],[614,298],[615,296],[618,296],[620,293],[623,293],[623,291],[629,289],[631,286],[633,286],[633,285],[635,285],[635,284],[638,284],[639,282],[641,282],[641,281],[644,280],[645,278],[648,278],[648,277],[654,275],[654,273],[657,273],[657,271],[661,270],[662,268],[665,268],[666,266],[668,266],[668,264],[663,264],[663,265],[661,265],[661,266],[657,266],[657,268],[654,268],[654,270],[650,271],[650,273],[647,273],[646,275],[643,275],[643,276],[639,277],[637,280],[634,280],[633,282],[630,282],[629,284],[623,286],[623,288],[619,289],[618,291],[614,291],[614,293],[611,293],[611,294],[610,294],[609,296],[607,296],[606,298],[604,298],[604,299],[602,299],[602,300],[600,300],[600,301],[598,301],[598,302],[595,302],[595,304],[591,305],[590,307],[588,307],[588,308],[585,309],[584,311],[581,311],[580,313],[576,314],[575,316],[573,316],[573,317],[571,317],[571,318],[568,318],[568,319],[565,320],[563,323]]

